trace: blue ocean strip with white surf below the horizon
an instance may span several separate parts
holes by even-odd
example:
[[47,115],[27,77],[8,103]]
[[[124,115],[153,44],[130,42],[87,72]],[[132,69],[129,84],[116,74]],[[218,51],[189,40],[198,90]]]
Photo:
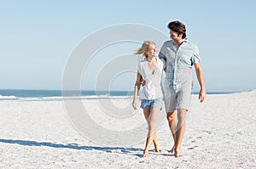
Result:
[[[193,93],[197,94],[197,93]],[[223,94],[223,93],[207,93]],[[61,90],[24,90],[24,89],[0,89],[0,101],[51,101],[62,99],[119,99],[133,97],[132,91],[61,91]]]

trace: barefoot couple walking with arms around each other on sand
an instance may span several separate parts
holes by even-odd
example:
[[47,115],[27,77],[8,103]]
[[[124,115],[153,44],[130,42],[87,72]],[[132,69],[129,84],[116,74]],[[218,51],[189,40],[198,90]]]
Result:
[[[154,42],[143,42],[137,54],[143,54],[145,59],[137,65],[137,81],[132,102],[137,109],[137,93],[140,90],[141,108],[148,122],[148,137],[143,157],[147,157],[152,142],[154,151],[159,152],[156,140],[155,122],[160,112],[163,98],[166,105],[166,117],[172,132],[174,145],[171,152],[176,157],[183,156],[180,149],[185,131],[185,118],[191,102],[192,68],[195,67],[197,80],[201,86],[200,102],[206,99],[206,88],[201,70],[201,58],[197,46],[186,38],[186,28],[179,21],[168,24],[170,41],[166,41],[160,49],[157,58],[157,48]],[[161,88],[161,76],[166,71],[165,97]]]

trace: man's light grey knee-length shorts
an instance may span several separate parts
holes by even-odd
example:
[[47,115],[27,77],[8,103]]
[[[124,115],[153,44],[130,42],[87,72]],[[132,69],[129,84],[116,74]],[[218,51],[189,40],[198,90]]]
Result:
[[166,112],[172,112],[177,109],[189,110],[191,104],[192,87],[183,87],[181,89],[170,89],[166,87],[165,104]]

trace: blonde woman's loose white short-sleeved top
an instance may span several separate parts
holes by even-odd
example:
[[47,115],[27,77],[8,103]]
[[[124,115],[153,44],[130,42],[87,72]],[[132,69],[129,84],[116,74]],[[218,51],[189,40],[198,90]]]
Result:
[[163,73],[163,62],[156,58],[156,68],[150,70],[148,60],[143,59],[138,65],[137,70],[143,76],[145,85],[141,86],[140,99],[161,99],[163,92],[161,87],[161,79]]

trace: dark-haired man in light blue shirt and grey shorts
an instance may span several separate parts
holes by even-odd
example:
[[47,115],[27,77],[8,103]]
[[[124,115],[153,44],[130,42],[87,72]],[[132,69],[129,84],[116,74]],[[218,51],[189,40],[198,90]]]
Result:
[[[172,40],[163,44],[159,58],[166,67],[165,104],[167,120],[172,131],[176,157],[183,156],[180,152],[185,132],[185,118],[191,102],[192,66],[195,66],[197,80],[201,86],[200,102],[206,99],[206,87],[201,70],[201,58],[197,46],[186,38],[186,28],[179,21],[168,24]],[[177,119],[176,119],[177,115]]]

